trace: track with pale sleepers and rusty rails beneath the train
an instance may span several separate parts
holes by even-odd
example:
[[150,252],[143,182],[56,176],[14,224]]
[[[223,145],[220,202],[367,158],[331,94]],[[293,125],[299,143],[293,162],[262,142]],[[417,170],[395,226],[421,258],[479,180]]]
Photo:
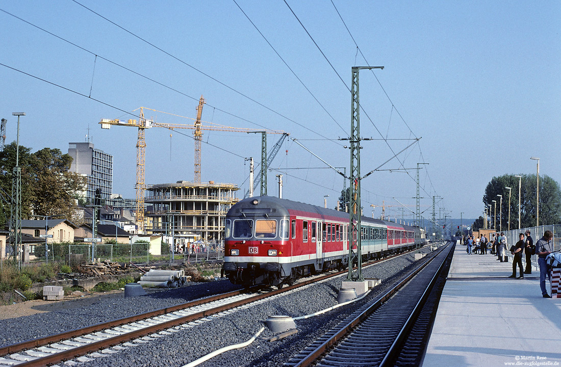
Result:
[[[386,259],[389,258],[371,262],[367,265],[369,266]],[[252,292],[245,290],[232,291],[131,317],[0,347],[0,366],[44,366],[57,364],[65,360],[84,359],[85,355],[91,353],[94,355],[95,353],[111,354],[116,352],[114,349],[111,349],[114,346],[134,340],[139,342],[147,341],[150,338],[158,337],[157,333],[178,331],[174,330],[174,328],[181,329],[182,325],[193,323],[195,320],[208,321],[213,317],[220,317],[221,313],[228,313],[233,308],[346,273],[346,271],[333,272],[327,275],[301,279],[292,286],[273,291],[259,289],[253,289]]]

